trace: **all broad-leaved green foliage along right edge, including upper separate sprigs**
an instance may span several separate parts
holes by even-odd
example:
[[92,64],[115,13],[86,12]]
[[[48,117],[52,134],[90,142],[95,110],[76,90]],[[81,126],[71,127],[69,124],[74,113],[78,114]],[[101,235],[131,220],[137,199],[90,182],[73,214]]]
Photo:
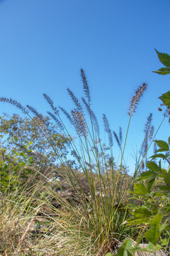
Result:
[[[156,52],[159,60],[166,68],[161,68],[154,73],[170,74],[170,55],[159,53],[157,50]],[[162,100],[162,105],[165,105],[168,110],[166,115],[169,114],[170,91],[164,93],[159,99]],[[170,165],[170,137],[168,142],[162,140],[155,140],[154,142],[159,146],[159,149],[157,149],[156,154],[150,157],[151,161],[147,161],[147,171],[142,172],[136,178],[134,190],[130,191],[133,195],[131,199],[138,201],[139,205],[130,204],[128,206],[132,215],[125,221],[133,227],[137,225],[140,237],[135,245],[132,245],[131,240],[126,239],[118,250],[117,255],[119,256],[134,255],[136,250],[147,252],[156,252],[159,249],[169,250],[170,169],[162,168],[162,160]],[[157,159],[159,159],[159,164],[156,163]],[[138,247],[143,238],[149,243],[145,249]]]

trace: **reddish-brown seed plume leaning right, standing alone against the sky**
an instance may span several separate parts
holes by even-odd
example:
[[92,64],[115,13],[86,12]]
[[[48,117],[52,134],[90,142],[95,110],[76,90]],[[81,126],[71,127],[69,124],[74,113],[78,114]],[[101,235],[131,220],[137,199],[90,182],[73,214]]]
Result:
[[130,100],[130,108],[129,108],[129,111],[128,111],[129,115],[132,115],[132,114],[135,113],[136,108],[137,108],[137,104],[140,102],[140,99],[143,96],[146,89],[147,89],[147,84],[144,82],[135,91],[135,95],[132,96],[132,100]]

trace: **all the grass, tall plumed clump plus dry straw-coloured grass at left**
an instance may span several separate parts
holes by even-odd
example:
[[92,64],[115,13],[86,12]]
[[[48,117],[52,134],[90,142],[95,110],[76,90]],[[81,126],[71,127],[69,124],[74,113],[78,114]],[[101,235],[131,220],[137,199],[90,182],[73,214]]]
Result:
[[[124,154],[130,121],[147,85],[142,84],[132,97],[124,142],[121,129],[119,136],[111,132],[108,119],[103,115],[104,129],[108,135],[106,146],[101,140],[98,120],[91,109],[89,86],[83,70],[81,79],[85,97],[78,100],[68,90],[74,102],[74,109],[70,113],[62,107],[55,107],[50,97],[44,95],[52,109],[52,112],[48,112],[50,118],[68,138],[69,151],[74,156],[77,169],[62,149],[56,149],[54,142],[48,139],[47,119],[33,107],[25,108],[15,100],[1,98],[1,101],[15,105],[31,119],[32,114],[37,117],[38,127],[60,161],[57,174],[62,178],[62,181],[37,184],[29,193],[23,189],[2,194],[1,252],[16,255],[101,256],[115,252],[124,238],[135,238],[137,235],[135,228],[123,225],[129,215],[125,206],[128,202],[127,192],[132,189],[134,178],[140,173],[149,143],[152,142],[151,121],[145,127],[145,139],[140,152],[142,160],[137,160],[133,177],[128,175],[127,166],[124,165]],[[76,141],[70,139],[72,134],[63,122],[63,113],[77,134]],[[120,164],[113,157],[113,134],[120,148]],[[54,201],[57,206],[52,204]],[[38,215],[45,218],[44,221],[39,220],[39,224]],[[37,231],[36,222],[40,226]],[[30,233],[33,225],[33,232]]]

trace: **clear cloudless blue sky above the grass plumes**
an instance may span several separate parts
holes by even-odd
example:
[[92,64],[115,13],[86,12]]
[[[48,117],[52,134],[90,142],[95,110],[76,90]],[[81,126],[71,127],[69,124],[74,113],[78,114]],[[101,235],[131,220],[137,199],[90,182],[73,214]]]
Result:
[[[169,10],[169,0],[0,0],[0,96],[45,113],[45,92],[70,110],[66,89],[81,97],[83,68],[99,122],[105,113],[111,129],[122,126],[125,137],[130,98],[147,82],[130,127],[130,160],[149,113],[155,129],[162,119],[158,97],[169,90],[169,76],[152,70],[162,67],[154,48],[170,53]],[[18,112],[0,105],[0,114]],[[168,135],[166,120],[157,139]]]

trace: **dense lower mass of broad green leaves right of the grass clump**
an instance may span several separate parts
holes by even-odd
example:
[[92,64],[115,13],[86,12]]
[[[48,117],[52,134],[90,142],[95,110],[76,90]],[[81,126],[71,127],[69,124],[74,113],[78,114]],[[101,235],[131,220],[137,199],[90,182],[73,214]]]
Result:
[[[156,143],[160,147],[157,152],[169,151],[168,143],[164,141],[156,141]],[[164,154],[156,154],[151,158],[168,161]],[[132,216],[128,219],[128,225],[137,225],[141,229],[142,237],[154,246],[160,244],[165,236],[167,245],[170,233],[170,227],[166,224],[170,221],[170,171],[162,168],[161,160],[159,166],[154,161],[149,161],[147,167],[148,171],[137,177],[134,191],[130,192],[140,205],[130,210]],[[129,209],[131,208],[130,205]],[[166,249],[164,246],[162,248]]]

